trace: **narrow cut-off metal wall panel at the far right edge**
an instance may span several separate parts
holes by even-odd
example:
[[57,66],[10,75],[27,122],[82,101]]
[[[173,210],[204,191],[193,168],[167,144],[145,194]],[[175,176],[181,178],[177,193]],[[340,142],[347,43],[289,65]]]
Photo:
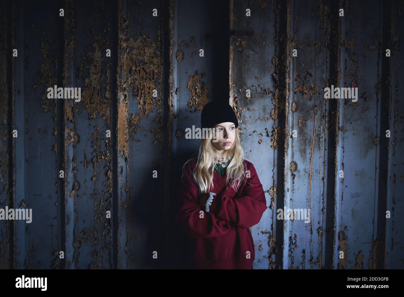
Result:
[[[386,96],[381,97],[381,102],[387,100],[385,112],[387,128],[391,132],[391,138],[385,147],[388,151],[385,152],[383,161],[385,162],[386,155],[387,160],[387,195],[386,195],[386,210],[391,213],[391,219],[386,222],[385,240],[386,240],[386,264],[387,268],[402,269],[404,264],[403,246],[404,232],[402,226],[404,226],[404,217],[400,211],[404,209],[404,201],[402,199],[404,193],[404,101],[402,94],[404,88],[402,82],[402,69],[404,68],[404,59],[400,48],[404,46],[404,19],[403,9],[404,3],[400,1],[398,5],[387,6],[383,12],[383,17],[387,20],[383,21],[383,35],[388,34],[387,46],[391,50],[391,58],[385,61],[386,74],[385,77],[385,89],[387,89]],[[388,17],[388,18],[387,18]],[[385,52],[385,47],[381,51],[381,55]],[[383,59],[386,59],[383,57]],[[401,78],[400,78],[401,77]],[[387,99],[388,98],[388,99]],[[381,129],[381,137],[385,134],[385,129]],[[387,154],[386,154],[387,153]],[[386,166],[386,165],[385,165]],[[383,215],[385,215],[384,212]]]

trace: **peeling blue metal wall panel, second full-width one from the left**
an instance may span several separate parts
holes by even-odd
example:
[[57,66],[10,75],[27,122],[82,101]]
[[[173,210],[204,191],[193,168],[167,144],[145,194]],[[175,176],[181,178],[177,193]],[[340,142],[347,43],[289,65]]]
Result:
[[74,199],[74,211],[66,213],[74,221],[66,246],[70,243],[74,246],[72,268],[113,268],[112,220],[105,215],[112,210],[114,162],[111,139],[106,137],[107,130],[114,131],[110,123],[111,67],[105,56],[110,48],[110,4],[80,2],[73,9],[76,45],[73,80],[75,85],[82,86],[82,100],[65,109],[65,120],[72,123],[65,141],[72,146],[67,160],[72,160],[69,175],[73,175],[73,180],[67,181],[66,199]]

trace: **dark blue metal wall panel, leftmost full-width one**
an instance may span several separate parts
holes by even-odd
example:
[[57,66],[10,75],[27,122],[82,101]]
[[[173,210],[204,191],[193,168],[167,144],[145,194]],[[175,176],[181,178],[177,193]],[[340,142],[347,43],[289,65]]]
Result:
[[[15,221],[15,268],[55,268],[59,250],[58,151],[55,145],[59,137],[55,122],[58,103],[47,98],[44,86],[57,84],[61,64],[58,53],[61,44],[56,37],[59,26],[48,26],[48,22],[58,23],[57,15],[47,17],[40,6],[29,2],[25,9],[30,12],[25,15],[29,24],[25,40],[15,34],[15,46],[19,50],[19,59],[15,62],[27,65],[15,70],[15,90],[25,94],[16,99],[14,108],[19,134],[15,140],[14,207],[32,209],[33,217],[29,224]],[[57,5],[51,4],[51,9],[57,9]],[[24,34],[22,21],[16,32]]]

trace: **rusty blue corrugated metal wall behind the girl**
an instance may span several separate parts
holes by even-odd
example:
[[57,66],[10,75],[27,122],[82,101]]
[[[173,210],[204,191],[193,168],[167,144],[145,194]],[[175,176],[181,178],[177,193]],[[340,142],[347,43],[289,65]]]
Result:
[[0,220],[0,268],[186,267],[184,131],[228,98],[267,197],[255,269],[404,268],[403,1],[0,4],[0,208],[33,213]]

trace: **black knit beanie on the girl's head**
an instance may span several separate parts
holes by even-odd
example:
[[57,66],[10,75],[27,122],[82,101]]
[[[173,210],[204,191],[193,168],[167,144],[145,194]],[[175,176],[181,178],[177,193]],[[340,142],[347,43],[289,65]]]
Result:
[[213,128],[219,123],[231,122],[238,127],[238,120],[234,110],[228,103],[212,101],[203,107],[201,113],[202,128]]

